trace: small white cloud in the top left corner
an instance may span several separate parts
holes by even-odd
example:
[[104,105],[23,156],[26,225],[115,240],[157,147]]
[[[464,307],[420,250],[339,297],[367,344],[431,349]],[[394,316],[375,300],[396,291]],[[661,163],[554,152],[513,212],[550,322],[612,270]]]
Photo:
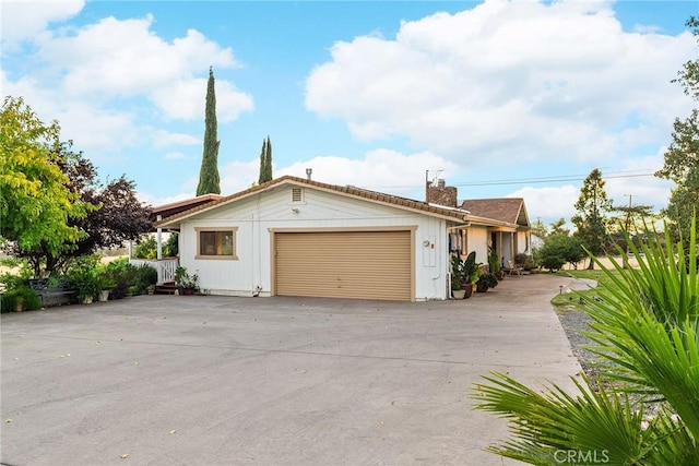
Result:
[[84,0],[4,0],[2,2],[2,48],[11,50],[16,43],[33,38],[49,23],[78,14]]

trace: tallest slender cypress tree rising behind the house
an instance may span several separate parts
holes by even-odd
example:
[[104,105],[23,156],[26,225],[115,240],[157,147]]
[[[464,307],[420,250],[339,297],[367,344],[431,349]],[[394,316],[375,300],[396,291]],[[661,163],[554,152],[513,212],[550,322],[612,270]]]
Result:
[[218,141],[216,122],[216,91],[214,89],[214,70],[209,68],[209,83],[206,84],[206,111],[204,120],[204,152],[199,170],[199,186],[197,195],[221,194],[221,178],[218,177]]

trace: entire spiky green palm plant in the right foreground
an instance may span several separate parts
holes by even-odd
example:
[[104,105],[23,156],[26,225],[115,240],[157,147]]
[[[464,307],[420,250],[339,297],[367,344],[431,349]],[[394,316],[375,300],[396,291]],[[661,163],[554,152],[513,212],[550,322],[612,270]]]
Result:
[[[543,393],[491,373],[476,384],[476,408],[509,421],[512,439],[488,451],[536,465],[699,464],[699,275],[696,219],[688,251],[668,235],[637,248],[639,268],[603,268],[616,287],[585,299],[591,347],[612,368],[597,391],[553,384]],[[616,271],[616,273],[614,273]],[[581,295],[582,297],[582,295]],[[606,389],[605,389],[606,386]],[[653,413],[649,416],[649,413]]]

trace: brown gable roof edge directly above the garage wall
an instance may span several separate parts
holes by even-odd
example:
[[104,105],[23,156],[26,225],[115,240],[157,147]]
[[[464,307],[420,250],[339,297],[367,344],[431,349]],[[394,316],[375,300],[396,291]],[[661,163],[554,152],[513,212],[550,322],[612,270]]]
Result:
[[218,200],[213,200],[205,204],[198,205],[192,208],[186,210],[183,212],[174,214],[167,218],[164,218],[162,222],[157,223],[156,225],[158,227],[175,226],[179,224],[181,220],[183,220],[185,218],[188,218],[192,215],[212,210],[222,204],[227,204],[233,201],[247,198],[248,195],[251,195],[253,193],[266,191],[273,187],[276,187],[280,184],[286,184],[286,183],[308,186],[308,187],[313,187],[323,191],[339,192],[344,195],[348,195],[352,198],[366,199],[368,201],[376,202],[379,204],[388,204],[388,205],[396,206],[399,208],[418,211],[427,215],[447,217],[449,219],[453,219],[454,222],[466,223],[469,220],[467,213],[459,208],[440,207],[433,204],[428,204],[426,202],[414,201],[407,198],[400,198],[396,195],[384,194],[377,191],[370,191],[370,190],[356,188],[352,186],[341,187],[337,184],[328,184],[320,181],[307,180],[304,178],[297,178],[297,177],[292,177],[287,175],[287,176],[283,176],[281,178],[276,178],[274,180],[268,181],[265,183],[249,188],[245,191],[240,191],[235,194],[221,198]]

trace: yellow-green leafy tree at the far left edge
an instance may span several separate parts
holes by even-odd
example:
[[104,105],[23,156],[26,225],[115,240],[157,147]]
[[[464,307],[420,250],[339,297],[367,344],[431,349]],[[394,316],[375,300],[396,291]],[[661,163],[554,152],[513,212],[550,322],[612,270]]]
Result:
[[5,97],[0,115],[0,237],[21,250],[58,253],[85,237],[70,219],[91,204],[69,188],[60,167],[60,127],[44,124],[22,98]]

